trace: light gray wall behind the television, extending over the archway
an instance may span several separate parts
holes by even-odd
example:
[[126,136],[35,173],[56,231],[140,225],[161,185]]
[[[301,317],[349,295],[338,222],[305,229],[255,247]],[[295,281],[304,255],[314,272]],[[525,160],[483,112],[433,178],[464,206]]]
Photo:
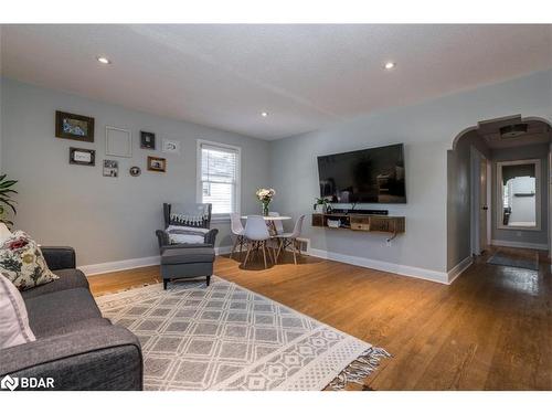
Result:
[[[414,106],[391,108],[342,121],[330,128],[272,142],[272,182],[278,191],[275,209],[294,216],[309,214],[318,195],[316,157],[333,152],[405,144],[407,204],[389,209],[406,216],[406,233],[385,245],[385,236],[311,227],[306,236],[314,248],[393,264],[446,272],[461,254],[460,237],[448,229],[456,220],[447,203],[447,150],[460,131],[479,120],[523,114],[552,119],[552,71],[482,86]],[[465,189],[450,189],[465,191]],[[460,199],[461,194],[450,194]],[[358,205],[361,208],[361,205]],[[448,233],[448,236],[447,236]],[[469,238],[469,237],[468,237]]]

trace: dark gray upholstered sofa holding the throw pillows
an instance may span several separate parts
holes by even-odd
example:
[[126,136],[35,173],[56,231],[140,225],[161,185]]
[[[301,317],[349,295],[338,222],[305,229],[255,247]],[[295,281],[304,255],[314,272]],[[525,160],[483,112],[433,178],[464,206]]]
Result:
[[0,350],[0,378],[53,378],[54,390],[141,390],[140,343],[94,301],[71,247],[41,247],[60,279],[22,293],[36,341]]

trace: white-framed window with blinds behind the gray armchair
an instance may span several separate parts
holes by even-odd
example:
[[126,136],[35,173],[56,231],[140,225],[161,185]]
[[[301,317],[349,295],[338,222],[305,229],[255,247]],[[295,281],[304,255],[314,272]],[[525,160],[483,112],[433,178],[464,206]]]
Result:
[[198,202],[213,219],[240,212],[240,148],[198,140]]

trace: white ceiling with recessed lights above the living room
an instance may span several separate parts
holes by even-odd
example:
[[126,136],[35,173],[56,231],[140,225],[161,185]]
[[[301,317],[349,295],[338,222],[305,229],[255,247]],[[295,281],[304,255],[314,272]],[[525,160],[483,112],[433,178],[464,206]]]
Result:
[[552,67],[552,25],[1,30],[8,77],[263,139]]

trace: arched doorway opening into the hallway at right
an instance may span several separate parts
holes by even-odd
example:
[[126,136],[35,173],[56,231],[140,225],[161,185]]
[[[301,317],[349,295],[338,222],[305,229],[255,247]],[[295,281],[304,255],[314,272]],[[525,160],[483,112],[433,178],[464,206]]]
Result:
[[[479,121],[455,137],[447,155],[448,269],[469,266],[471,256],[495,246],[550,252],[551,142],[549,120],[521,115]],[[533,172],[527,172],[529,161]],[[526,171],[518,181],[534,191],[512,187],[521,185],[510,180],[516,171]],[[531,208],[534,220],[519,219]]]

